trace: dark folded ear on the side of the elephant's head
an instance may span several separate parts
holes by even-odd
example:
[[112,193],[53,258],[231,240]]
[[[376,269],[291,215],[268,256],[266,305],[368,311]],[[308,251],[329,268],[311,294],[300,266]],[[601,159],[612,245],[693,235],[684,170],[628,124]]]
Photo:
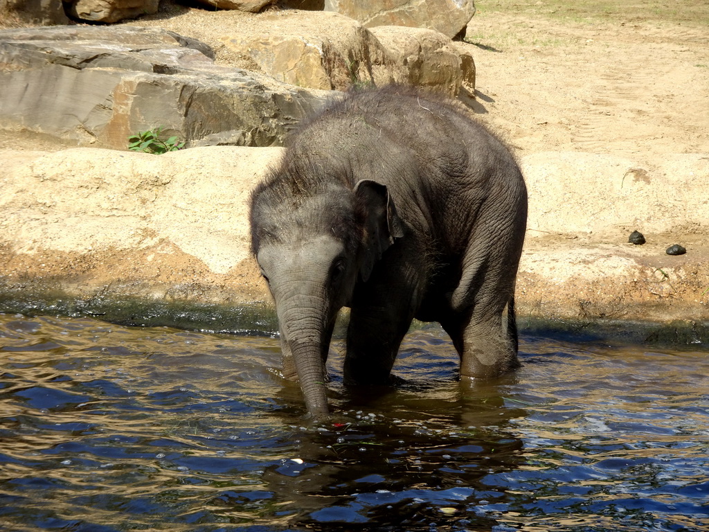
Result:
[[354,185],[353,192],[364,212],[364,249],[359,272],[367,282],[376,261],[394,243],[394,238],[403,236],[403,226],[386,185],[362,179]]

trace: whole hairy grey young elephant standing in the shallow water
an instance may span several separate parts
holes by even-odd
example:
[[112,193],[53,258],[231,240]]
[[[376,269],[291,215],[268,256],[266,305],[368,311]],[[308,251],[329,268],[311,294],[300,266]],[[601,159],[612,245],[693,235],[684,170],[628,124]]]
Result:
[[515,160],[454,104],[386,87],[303,124],[252,195],[251,233],[284,376],[300,381],[308,412],[328,413],[325,360],[342,306],[352,309],[347,384],[389,383],[413,318],[440,322],[464,377],[516,367],[526,219]]

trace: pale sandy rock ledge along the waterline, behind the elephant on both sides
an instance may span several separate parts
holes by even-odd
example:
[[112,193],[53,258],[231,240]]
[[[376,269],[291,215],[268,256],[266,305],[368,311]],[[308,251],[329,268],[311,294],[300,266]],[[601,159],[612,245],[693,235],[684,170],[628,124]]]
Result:
[[[248,326],[244,307],[268,296],[249,253],[247,202],[281,153],[0,151],[1,308],[218,331]],[[646,323],[635,328],[641,339],[663,330],[709,341],[709,208],[700,193],[709,157],[639,166],[549,152],[520,165],[530,191],[517,286],[523,327],[616,323],[624,333],[636,321]],[[644,245],[628,242],[636,229]],[[676,243],[686,254],[667,255]]]

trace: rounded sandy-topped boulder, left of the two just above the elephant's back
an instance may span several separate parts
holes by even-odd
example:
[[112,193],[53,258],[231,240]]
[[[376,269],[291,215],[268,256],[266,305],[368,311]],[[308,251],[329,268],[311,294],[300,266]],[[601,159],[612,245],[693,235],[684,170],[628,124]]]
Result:
[[312,89],[344,90],[353,84],[395,81],[393,62],[362,24],[337,13],[277,11],[259,18],[264,33],[220,40],[249,55],[281,82]]

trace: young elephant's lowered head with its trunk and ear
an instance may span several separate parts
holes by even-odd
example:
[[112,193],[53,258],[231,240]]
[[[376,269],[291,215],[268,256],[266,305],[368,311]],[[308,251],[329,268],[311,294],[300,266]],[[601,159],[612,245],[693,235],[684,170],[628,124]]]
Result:
[[252,253],[276,304],[284,377],[298,379],[312,416],[328,414],[325,360],[337,312],[403,235],[384,184],[281,165],[255,189]]

